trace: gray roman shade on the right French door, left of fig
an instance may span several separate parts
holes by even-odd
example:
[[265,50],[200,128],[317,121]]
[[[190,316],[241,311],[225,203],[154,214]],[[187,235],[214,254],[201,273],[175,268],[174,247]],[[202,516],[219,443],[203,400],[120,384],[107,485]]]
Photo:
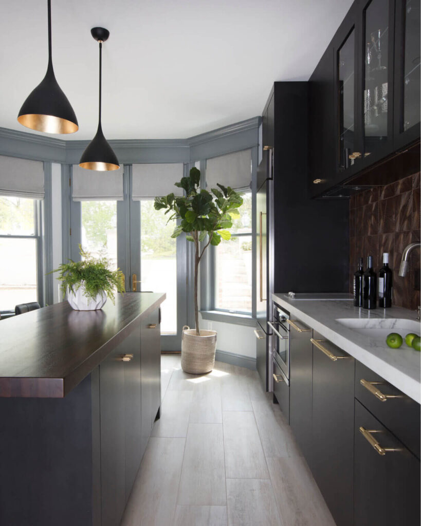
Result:
[[183,195],[183,189],[174,186],[183,177],[183,163],[134,164],[132,166],[132,199]]

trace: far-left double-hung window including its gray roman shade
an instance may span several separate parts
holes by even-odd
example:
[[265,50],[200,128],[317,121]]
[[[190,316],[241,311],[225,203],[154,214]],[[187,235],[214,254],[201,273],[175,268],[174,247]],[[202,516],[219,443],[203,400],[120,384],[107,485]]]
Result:
[[0,312],[43,305],[44,197],[43,163],[0,156]]

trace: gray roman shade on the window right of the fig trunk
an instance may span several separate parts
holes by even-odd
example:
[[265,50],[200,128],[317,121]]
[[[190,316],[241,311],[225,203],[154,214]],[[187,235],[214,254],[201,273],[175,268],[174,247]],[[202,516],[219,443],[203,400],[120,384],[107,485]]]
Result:
[[217,188],[219,183],[234,189],[245,189],[252,180],[252,150],[234,151],[232,154],[206,159],[206,189]]

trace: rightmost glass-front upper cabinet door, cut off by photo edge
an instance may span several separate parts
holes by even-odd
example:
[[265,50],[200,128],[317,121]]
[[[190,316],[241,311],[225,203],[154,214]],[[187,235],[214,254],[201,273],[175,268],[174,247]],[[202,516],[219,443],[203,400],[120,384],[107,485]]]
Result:
[[395,33],[395,142],[419,138],[420,0],[397,0]]

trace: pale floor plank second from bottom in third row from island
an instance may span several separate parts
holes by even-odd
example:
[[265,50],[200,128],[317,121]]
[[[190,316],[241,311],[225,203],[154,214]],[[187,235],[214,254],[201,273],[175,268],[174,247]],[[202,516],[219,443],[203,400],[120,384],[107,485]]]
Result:
[[253,411],[224,411],[223,430],[226,477],[268,479]]

